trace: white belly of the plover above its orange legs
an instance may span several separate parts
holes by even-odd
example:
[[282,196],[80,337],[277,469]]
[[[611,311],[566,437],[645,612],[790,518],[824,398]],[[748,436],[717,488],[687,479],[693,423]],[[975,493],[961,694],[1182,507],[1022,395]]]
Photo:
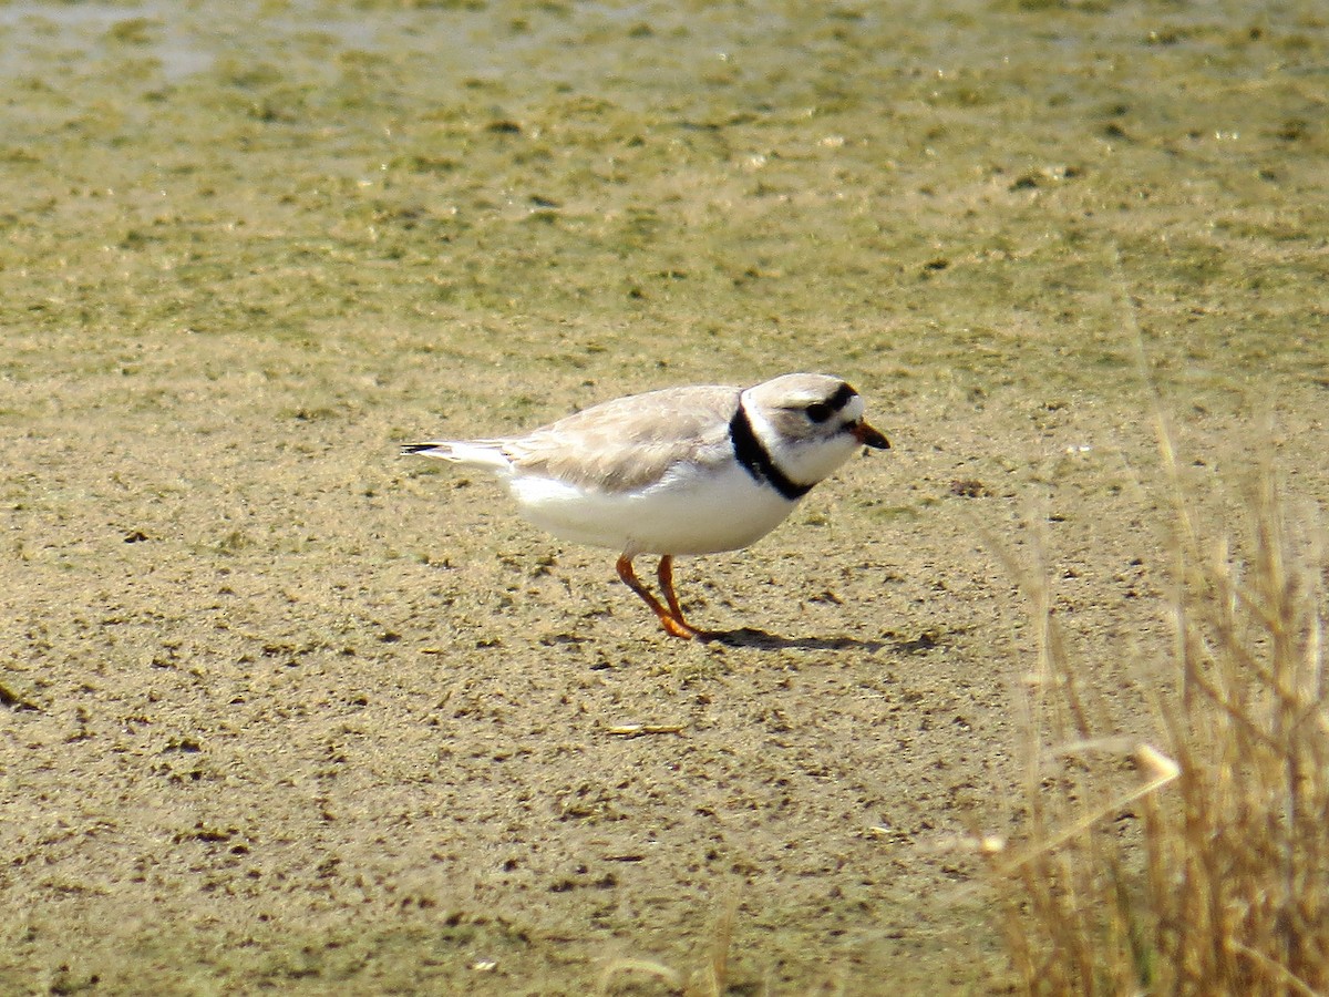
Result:
[[742,467],[670,475],[642,492],[583,492],[516,476],[522,514],[556,537],[625,554],[712,554],[754,544],[797,502],[759,485]]

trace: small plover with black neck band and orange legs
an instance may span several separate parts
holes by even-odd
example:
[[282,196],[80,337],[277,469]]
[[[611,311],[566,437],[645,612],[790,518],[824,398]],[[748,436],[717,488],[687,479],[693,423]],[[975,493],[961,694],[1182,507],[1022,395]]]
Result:
[[[403,455],[494,473],[521,514],[553,536],[619,552],[618,577],[682,639],[687,621],[674,558],[739,550],[788,517],[861,448],[886,449],[863,396],[825,374],[785,374],[740,388],[662,388],[603,401],[522,436],[429,440]],[[634,558],[659,556],[663,602]]]

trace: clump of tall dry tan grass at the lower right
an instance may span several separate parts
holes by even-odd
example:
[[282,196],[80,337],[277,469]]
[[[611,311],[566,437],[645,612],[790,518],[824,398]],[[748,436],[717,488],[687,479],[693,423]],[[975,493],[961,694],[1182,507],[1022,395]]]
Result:
[[1114,734],[1100,682],[1058,629],[1050,573],[1023,574],[1041,634],[1025,703],[1029,833],[987,856],[1009,952],[1029,993],[1325,993],[1318,525],[1289,522],[1265,464],[1240,538],[1205,538],[1174,435],[1158,425],[1175,522],[1174,641],[1164,661],[1134,662],[1152,743]]

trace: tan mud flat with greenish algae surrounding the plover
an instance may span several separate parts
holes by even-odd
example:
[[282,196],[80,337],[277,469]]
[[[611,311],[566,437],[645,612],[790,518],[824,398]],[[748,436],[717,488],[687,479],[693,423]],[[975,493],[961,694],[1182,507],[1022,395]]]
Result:
[[[1132,324],[1205,524],[1329,497],[1309,8],[5,13],[5,992],[999,992],[1021,573],[1151,732]],[[724,641],[396,456],[783,370],[893,449]]]

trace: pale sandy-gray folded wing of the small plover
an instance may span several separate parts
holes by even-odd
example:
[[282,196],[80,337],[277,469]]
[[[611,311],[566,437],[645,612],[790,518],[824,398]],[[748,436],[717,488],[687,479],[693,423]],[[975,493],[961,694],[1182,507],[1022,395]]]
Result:
[[730,459],[739,388],[666,388],[594,405],[504,441],[520,472],[622,492],[658,481],[676,464]]

